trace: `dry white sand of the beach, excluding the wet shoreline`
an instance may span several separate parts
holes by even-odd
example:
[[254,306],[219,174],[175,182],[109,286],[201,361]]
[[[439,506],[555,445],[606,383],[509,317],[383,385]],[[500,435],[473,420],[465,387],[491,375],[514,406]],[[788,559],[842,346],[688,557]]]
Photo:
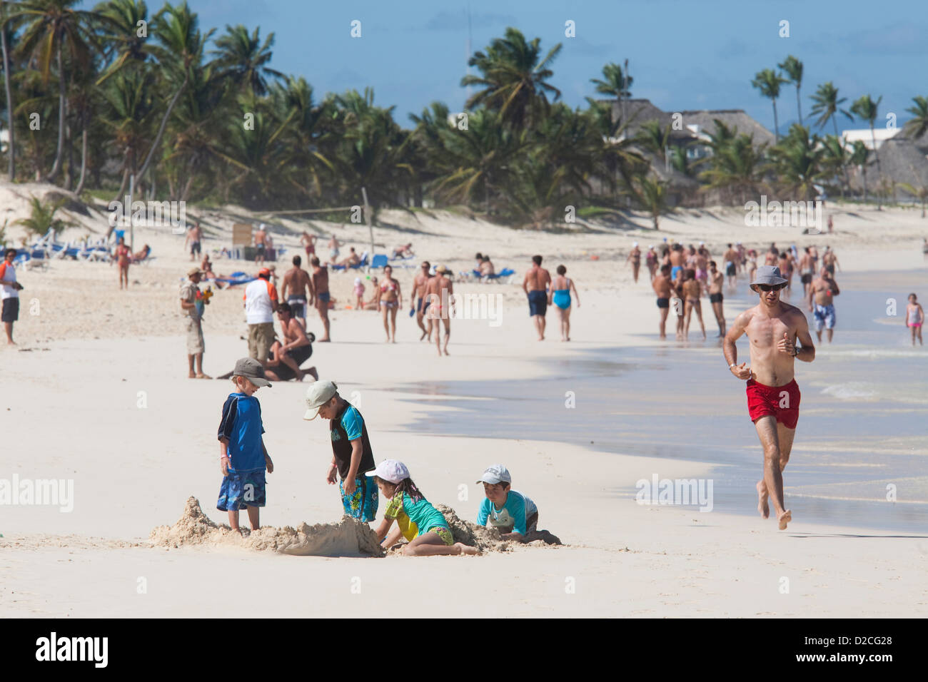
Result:
[[[786,244],[795,236],[800,246],[808,243],[804,239],[831,243],[849,270],[922,266],[919,245],[928,221],[918,212],[857,213],[860,217],[839,213],[838,233],[829,238],[746,228],[738,225],[737,212],[727,212],[726,220],[707,212],[667,218],[659,236],[685,243],[702,237],[716,255],[728,240],[762,246],[771,238]],[[20,350],[31,350],[5,350],[2,356],[0,431],[7,457],[0,478],[17,473],[20,479],[72,479],[74,504],[71,513],[3,509],[0,616],[224,616],[240,612],[229,594],[243,585],[258,596],[250,599],[251,614],[270,617],[380,616],[400,604],[410,615],[438,616],[928,613],[924,536],[814,526],[798,516],[786,532],[778,532],[774,521],[749,516],[638,506],[617,491],[654,472],[661,478],[704,476],[709,465],[601,453],[582,432],[574,444],[556,444],[532,440],[530,433],[487,438],[479,423],[461,429],[470,437],[410,429],[417,418],[453,409],[440,396],[414,402],[423,398],[417,380],[527,380],[563,373],[565,360],[590,349],[657,344],[647,276],[634,285],[621,261],[632,240],[647,246],[658,239],[647,229],[527,233],[445,213],[419,215],[419,223],[399,212],[384,219],[418,232],[379,228],[380,243],[392,249],[412,240],[420,255],[455,271],[470,268],[473,251],[488,251],[497,268],[520,271],[541,252],[552,267],[567,264],[576,278],[583,305],[574,310],[570,344],[534,340],[516,286],[461,285],[460,290],[502,294],[504,316],[496,328],[486,321],[454,321],[449,357],[439,358],[433,347],[416,341],[415,323],[405,312],[397,320],[399,342],[386,345],[378,315],[338,311],[332,315],[336,342],[316,344],[311,361],[359,404],[376,458],[405,461],[430,501],[462,517],[475,515],[482,491],[473,482],[485,466],[502,461],[515,487],[538,504],[540,525],[566,546],[515,546],[474,558],[382,560],[283,556],[224,544],[149,547],[149,531],[173,524],[190,495],[214,522],[226,522],[226,514],[214,508],[221,477],[214,433],[231,384],[186,379],[175,300],[188,264],[183,238],[143,231],[136,235],[136,249],[141,238],[158,260],[133,268],[131,276],[140,284],[129,292],[117,289],[115,268],[106,264],[55,262],[45,273],[20,273],[26,290],[16,335]],[[231,222],[216,221],[223,234]],[[648,222],[642,218],[638,224]],[[212,225],[204,226],[214,234]],[[347,237],[341,230],[339,236],[363,249],[366,233],[351,225],[344,228]],[[288,241],[292,247],[295,237],[277,237],[278,243]],[[208,238],[205,246],[220,243]],[[587,260],[593,252],[599,262]],[[217,267],[246,269],[221,261]],[[412,271],[398,277],[406,287]],[[336,298],[347,295],[353,279],[332,275]],[[240,290],[220,291],[207,313],[205,368],[213,375],[245,354],[238,339],[244,331],[240,297]],[[32,298],[38,299],[39,315],[28,313]],[[735,312],[728,310],[729,320]],[[312,317],[310,329],[319,331]],[[549,337],[557,336],[549,324]],[[673,341],[666,345],[676,347]],[[687,352],[679,351],[681,359]],[[569,383],[565,380],[565,392]],[[257,394],[265,443],[275,461],[263,525],[341,518],[337,489],[324,480],[327,425],[302,420],[303,388],[277,384]],[[570,414],[565,410],[567,431]],[[800,430],[797,444],[801,437]],[[416,585],[414,598],[404,596],[405,585]]]

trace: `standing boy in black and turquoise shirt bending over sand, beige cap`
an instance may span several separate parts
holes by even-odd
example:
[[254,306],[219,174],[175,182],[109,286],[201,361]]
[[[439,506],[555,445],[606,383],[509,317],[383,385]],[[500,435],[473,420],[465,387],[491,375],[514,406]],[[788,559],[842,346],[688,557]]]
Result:
[[332,462],[326,481],[341,481],[342,509],[358,521],[377,518],[378,490],[367,471],[374,469],[374,453],[367,438],[367,425],[354,405],[342,398],[334,381],[316,381],[306,390],[304,419],[329,419]]

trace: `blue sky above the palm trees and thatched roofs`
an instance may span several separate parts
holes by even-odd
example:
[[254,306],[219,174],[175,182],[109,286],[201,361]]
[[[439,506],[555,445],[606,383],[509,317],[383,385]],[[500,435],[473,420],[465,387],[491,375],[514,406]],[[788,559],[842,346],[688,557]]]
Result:
[[[374,88],[375,103],[394,106],[411,127],[432,101],[463,109],[467,90],[468,14],[471,51],[481,50],[509,26],[542,54],[563,44],[550,83],[561,100],[584,106],[591,78],[607,62],[629,61],[632,97],[660,109],[745,109],[773,130],[770,100],[751,86],[757,71],[775,69],[787,55],[805,64],[803,116],[818,84],[831,81],[849,108],[869,93],[883,97],[877,125],[911,115],[911,98],[928,96],[928,0],[188,0],[201,30],[241,23],[261,35],[274,32],[272,67],[303,75],[316,100],[328,92]],[[92,6],[96,3],[85,3]],[[149,12],[161,5],[149,0]],[[360,37],[352,22],[360,21]],[[565,35],[574,22],[575,36]],[[781,36],[788,21],[789,36]],[[793,84],[777,103],[780,132],[796,121]],[[866,123],[842,120],[839,127]],[[826,132],[831,132],[831,124]]]

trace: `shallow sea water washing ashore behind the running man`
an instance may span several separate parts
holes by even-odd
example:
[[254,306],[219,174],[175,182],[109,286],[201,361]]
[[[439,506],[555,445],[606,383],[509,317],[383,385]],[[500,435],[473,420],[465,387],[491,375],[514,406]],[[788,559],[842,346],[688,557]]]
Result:
[[[910,291],[928,302],[928,269],[839,274],[837,281],[834,341],[817,343],[813,363],[797,363],[802,403],[784,473],[787,506],[802,521],[928,533],[928,348],[912,348],[902,321]],[[727,296],[729,324],[735,310],[753,304],[749,294],[741,286]],[[896,316],[887,315],[891,299]],[[710,462],[715,510],[755,515],[762,452],[744,384],[728,372],[721,344],[711,338],[714,328],[707,320],[704,342],[548,360],[543,379],[397,388],[426,403],[442,396],[442,405],[462,411],[440,411],[412,425],[422,431],[586,444],[603,457]],[[739,357],[747,353],[742,337]],[[565,406],[566,392],[574,393],[574,408]],[[629,473],[634,480],[664,477],[659,469]],[[617,498],[636,494],[618,482],[610,491]]]

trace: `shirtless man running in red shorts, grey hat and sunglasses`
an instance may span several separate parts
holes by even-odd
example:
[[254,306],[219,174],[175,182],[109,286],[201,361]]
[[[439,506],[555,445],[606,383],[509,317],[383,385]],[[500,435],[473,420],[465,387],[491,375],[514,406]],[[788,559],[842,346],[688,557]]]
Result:
[[[815,359],[815,346],[809,336],[806,315],[799,308],[780,301],[786,278],[773,266],[757,268],[751,289],[758,303],[735,318],[725,336],[723,350],[728,371],[747,380],[748,415],[764,448],[764,477],[757,482],[757,510],[762,519],[770,516],[768,498],[773,500],[780,530],[793,521],[783,502],[783,470],[790,460],[793,436],[799,420],[799,386],[794,377],[794,360]],[[750,341],[751,365],[738,364],[735,342],[746,334]],[[802,343],[799,347],[796,341]]]

